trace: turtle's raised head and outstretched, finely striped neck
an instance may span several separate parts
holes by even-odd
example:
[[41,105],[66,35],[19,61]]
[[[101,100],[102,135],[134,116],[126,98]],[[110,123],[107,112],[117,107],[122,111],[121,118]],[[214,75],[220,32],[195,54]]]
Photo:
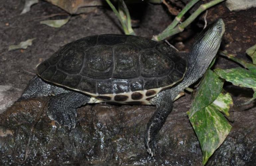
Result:
[[225,24],[222,19],[218,19],[209,24],[194,40],[189,52],[188,69],[177,92],[193,84],[205,73],[217,54],[224,32]]

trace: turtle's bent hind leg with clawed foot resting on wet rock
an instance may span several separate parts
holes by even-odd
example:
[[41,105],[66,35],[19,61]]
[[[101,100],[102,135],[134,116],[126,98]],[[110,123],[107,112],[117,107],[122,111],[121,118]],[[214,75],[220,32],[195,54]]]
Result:
[[61,93],[49,100],[48,117],[60,125],[74,128],[76,124],[76,108],[85,105],[90,97],[79,92]]

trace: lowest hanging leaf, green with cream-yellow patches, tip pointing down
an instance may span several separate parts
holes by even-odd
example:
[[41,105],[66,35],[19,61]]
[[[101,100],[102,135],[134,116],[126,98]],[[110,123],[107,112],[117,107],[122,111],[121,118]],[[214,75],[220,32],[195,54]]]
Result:
[[[226,95],[220,93],[213,103],[197,111],[190,118],[202,149],[203,165],[223,143],[232,127],[220,113],[227,115],[230,105],[233,105],[231,96],[228,93]],[[190,116],[190,112],[188,115]]]

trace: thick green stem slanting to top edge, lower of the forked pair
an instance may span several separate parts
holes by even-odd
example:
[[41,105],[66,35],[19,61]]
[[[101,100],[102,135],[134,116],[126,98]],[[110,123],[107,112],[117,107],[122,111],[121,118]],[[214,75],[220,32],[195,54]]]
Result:
[[162,41],[170,36],[173,36],[179,32],[182,32],[184,30],[184,28],[186,28],[190,23],[192,23],[192,21],[194,21],[194,19],[199,16],[203,11],[205,11],[206,9],[220,3],[223,2],[225,0],[213,0],[211,2],[208,2],[206,4],[200,5],[200,7],[183,23],[181,23],[180,25],[176,26],[173,29],[166,29],[164,30],[162,33],[160,33],[158,36],[154,36],[152,38],[152,40],[155,41]]

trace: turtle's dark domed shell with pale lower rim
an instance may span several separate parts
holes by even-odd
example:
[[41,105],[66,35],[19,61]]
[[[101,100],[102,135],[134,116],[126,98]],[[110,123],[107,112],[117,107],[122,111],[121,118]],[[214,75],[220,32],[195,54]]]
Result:
[[102,99],[136,91],[154,96],[180,81],[185,71],[185,60],[167,44],[111,34],[68,43],[37,67],[46,81]]

